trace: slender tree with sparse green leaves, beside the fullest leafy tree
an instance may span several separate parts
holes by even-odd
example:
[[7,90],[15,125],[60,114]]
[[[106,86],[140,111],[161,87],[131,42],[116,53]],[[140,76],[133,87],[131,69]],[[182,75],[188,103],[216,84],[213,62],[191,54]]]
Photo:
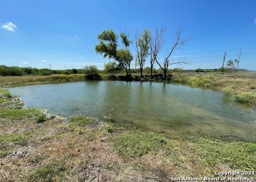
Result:
[[141,35],[135,35],[137,55],[136,59],[140,65],[140,77],[143,77],[143,66],[145,65],[146,58],[149,55],[151,34],[149,30],[144,30]]

